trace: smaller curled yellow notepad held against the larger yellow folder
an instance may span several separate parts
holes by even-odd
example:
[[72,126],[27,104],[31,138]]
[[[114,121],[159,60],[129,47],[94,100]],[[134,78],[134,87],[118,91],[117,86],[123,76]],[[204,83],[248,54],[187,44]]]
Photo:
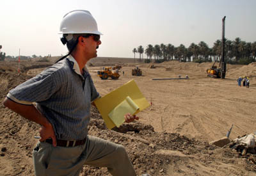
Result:
[[109,118],[114,122],[116,127],[120,127],[125,122],[124,115],[131,113],[135,115],[139,111],[139,106],[128,96],[118,106],[116,106],[109,114]]

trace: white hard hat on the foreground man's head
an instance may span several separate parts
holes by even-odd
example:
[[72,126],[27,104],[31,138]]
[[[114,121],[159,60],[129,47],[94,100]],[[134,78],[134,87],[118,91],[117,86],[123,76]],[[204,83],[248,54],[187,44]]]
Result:
[[96,20],[87,10],[73,10],[64,15],[60,24],[60,34],[97,34],[98,31]]

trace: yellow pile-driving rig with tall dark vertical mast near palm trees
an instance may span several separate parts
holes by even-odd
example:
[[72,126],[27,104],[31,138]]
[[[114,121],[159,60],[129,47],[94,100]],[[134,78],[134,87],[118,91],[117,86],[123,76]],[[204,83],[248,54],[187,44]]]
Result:
[[217,68],[215,66],[216,61],[214,61],[213,65],[211,68],[207,68],[207,76],[209,77],[216,77],[216,78],[221,78],[225,79],[226,75],[226,67],[227,63],[225,62],[225,17],[222,19],[222,52],[221,52],[221,61],[220,61],[220,66]]

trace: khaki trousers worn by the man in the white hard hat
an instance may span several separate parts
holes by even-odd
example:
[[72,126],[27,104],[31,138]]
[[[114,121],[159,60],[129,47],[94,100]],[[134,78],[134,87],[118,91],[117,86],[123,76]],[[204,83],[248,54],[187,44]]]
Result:
[[111,175],[136,175],[122,145],[88,135],[84,145],[53,147],[38,142],[33,150],[36,176],[79,175],[84,164],[106,167]]

